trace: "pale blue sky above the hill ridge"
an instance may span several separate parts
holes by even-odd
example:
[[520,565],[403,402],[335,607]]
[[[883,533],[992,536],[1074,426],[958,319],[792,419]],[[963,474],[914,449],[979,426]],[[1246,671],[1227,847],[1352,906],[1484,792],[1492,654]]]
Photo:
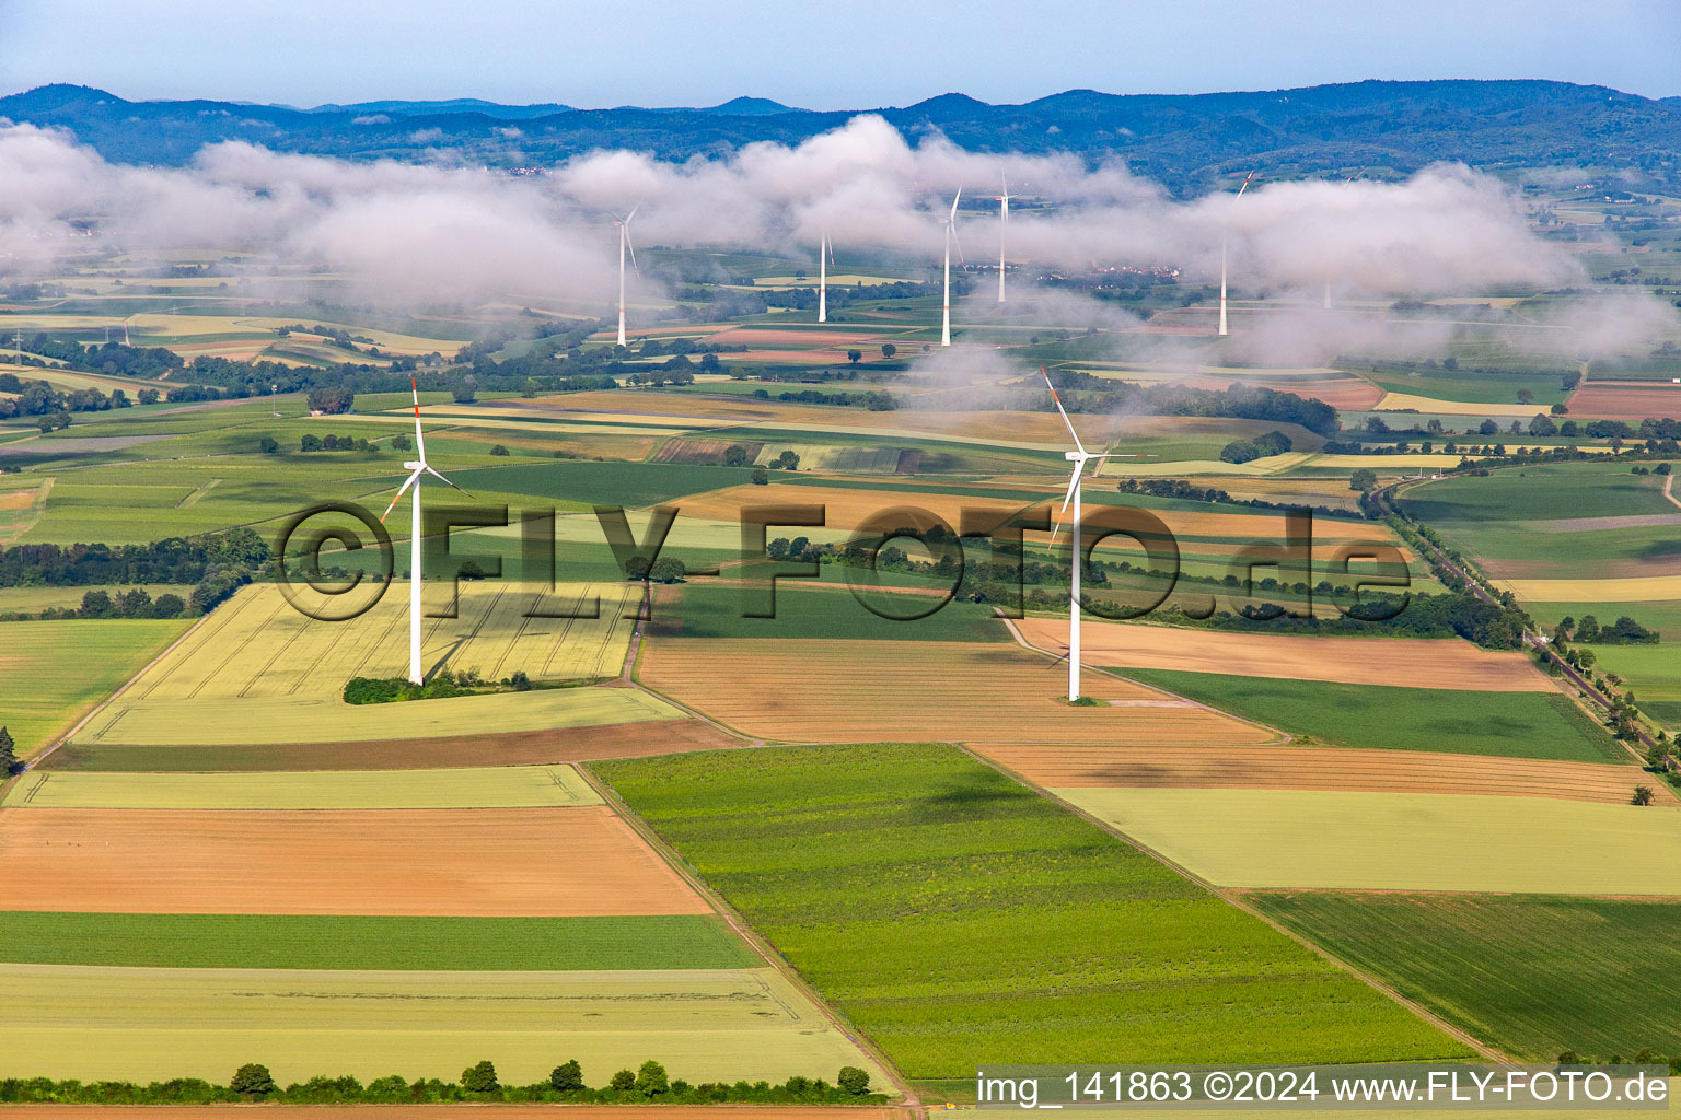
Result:
[[0,0],[0,92],[814,109],[1550,77],[1681,94],[1678,0]]

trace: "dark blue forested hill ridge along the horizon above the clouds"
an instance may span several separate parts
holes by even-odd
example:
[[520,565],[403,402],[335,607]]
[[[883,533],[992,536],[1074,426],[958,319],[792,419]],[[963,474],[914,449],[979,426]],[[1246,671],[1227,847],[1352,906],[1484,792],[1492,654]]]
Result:
[[1069,91],[1019,106],[943,94],[906,107],[815,113],[761,97],[706,109],[572,109],[482,101],[254,106],[124,101],[86,86],[0,97],[0,118],[72,131],[108,160],[180,165],[208,143],[281,151],[415,158],[449,148],[491,166],[541,166],[592,148],[661,158],[797,143],[857,113],[906,136],[930,129],[975,151],[1078,151],[1125,158],[1135,173],[1197,193],[1222,173],[1269,176],[1372,168],[1410,173],[1437,160],[1474,166],[1637,168],[1644,186],[1681,183],[1681,99],[1547,81],[1353,82],[1271,92],[1101,94]]

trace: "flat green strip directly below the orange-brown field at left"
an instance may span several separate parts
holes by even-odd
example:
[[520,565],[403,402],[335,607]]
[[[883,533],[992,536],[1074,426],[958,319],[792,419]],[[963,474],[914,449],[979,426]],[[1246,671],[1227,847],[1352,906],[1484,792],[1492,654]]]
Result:
[[[237,902],[237,900],[230,900]],[[750,969],[699,913],[570,919],[0,912],[0,960],[166,969]]]

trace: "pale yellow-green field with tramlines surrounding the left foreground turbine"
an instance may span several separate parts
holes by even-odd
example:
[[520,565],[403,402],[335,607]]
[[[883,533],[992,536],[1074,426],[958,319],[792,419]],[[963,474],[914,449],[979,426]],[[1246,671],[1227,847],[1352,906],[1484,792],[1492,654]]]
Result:
[[[437,589],[437,606],[447,589]],[[524,618],[536,601],[513,583],[464,583],[457,618],[427,618],[427,672],[476,668],[487,680],[524,670],[533,680],[619,677],[639,589],[561,584],[555,610],[598,618]],[[635,688],[582,687],[350,705],[351,677],[402,677],[408,662],[407,584],[360,618],[328,623],[296,611],[274,584],[242,588],[187,641],[136,677],[74,737],[77,744],[277,744],[380,741],[587,727],[681,712]]]

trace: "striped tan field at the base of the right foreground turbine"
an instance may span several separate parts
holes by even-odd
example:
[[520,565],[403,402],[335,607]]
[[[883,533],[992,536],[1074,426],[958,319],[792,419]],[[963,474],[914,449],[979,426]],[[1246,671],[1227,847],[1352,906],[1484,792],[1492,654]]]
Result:
[[1269,730],[1014,645],[652,638],[642,680],[750,735],[783,742],[978,741],[1106,746],[1267,742]]

